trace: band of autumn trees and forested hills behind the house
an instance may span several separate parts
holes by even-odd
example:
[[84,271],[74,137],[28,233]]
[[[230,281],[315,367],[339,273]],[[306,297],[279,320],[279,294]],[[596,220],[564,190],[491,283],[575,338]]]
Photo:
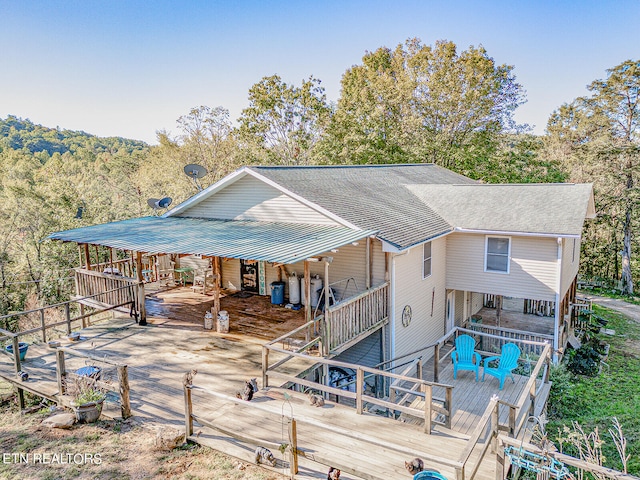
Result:
[[197,191],[189,163],[208,169],[203,187],[248,164],[434,162],[490,183],[591,182],[599,217],[586,227],[583,270],[631,293],[639,85],[638,62],[625,62],[536,136],[513,120],[525,93],[512,66],[482,47],[409,39],[348,69],[336,104],[314,77],[297,86],[272,75],[250,88],[237,122],[224,106],[195,107],[156,146],[0,119],[0,313],[66,299],[78,254],[49,233],[150,215],[151,197],[175,205]]

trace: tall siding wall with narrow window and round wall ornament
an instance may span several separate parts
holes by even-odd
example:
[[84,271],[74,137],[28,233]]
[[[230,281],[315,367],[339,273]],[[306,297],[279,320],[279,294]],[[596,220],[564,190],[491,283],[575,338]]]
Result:
[[[414,247],[405,255],[395,257],[395,351],[398,357],[421,347],[435,343],[444,335],[446,297],[445,271],[447,257],[446,239],[436,239],[431,245],[431,276],[422,278],[422,245]],[[402,310],[411,306],[412,320],[408,327],[402,325]],[[433,350],[422,352],[425,358]]]

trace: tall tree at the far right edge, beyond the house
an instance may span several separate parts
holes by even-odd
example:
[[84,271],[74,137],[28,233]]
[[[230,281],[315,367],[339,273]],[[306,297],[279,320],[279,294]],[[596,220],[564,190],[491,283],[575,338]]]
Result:
[[[594,182],[599,211],[604,214],[601,221],[612,229],[611,235],[594,240],[609,248],[613,245],[609,258],[616,264],[616,246],[621,245],[622,292],[630,295],[639,198],[640,61],[627,60],[607,70],[607,77],[595,80],[588,89],[590,96],[577,98],[553,113],[548,123],[550,142],[572,180]],[[616,276],[617,270],[616,265]]]

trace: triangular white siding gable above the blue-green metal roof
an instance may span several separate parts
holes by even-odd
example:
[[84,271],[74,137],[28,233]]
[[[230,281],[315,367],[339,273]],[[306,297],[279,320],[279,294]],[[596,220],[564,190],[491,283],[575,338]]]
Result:
[[338,225],[334,220],[249,175],[178,216]]

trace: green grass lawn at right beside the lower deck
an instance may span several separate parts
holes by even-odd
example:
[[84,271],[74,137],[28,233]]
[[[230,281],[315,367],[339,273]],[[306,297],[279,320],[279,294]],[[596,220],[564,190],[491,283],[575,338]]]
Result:
[[594,306],[594,313],[606,318],[614,336],[601,335],[611,345],[602,372],[596,377],[574,376],[559,367],[553,372],[550,422],[547,432],[555,441],[558,432],[572,422],[586,432],[598,429],[604,440],[605,465],[621,469],[622,463],[608,434],[616,417],[628,441],[629,473],[640,475],[640,322],[612,310]]

